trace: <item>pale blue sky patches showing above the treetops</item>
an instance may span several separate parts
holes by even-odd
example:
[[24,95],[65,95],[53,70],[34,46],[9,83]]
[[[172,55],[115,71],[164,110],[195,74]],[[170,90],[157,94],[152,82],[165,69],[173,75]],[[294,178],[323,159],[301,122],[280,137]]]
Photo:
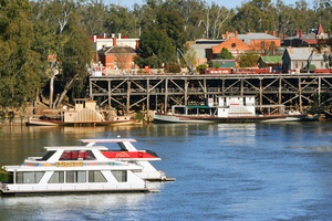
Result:
[[[207,3],[211,3],[212,1],[219,6],[225,6],[228,9],[232,9],[232,8],[235,9],[236,7],[240,7],[241,3],[243,2],[243,0],[206,0]],[[276,1],[277,0],[272,0],[272,2],[276,2]],[[297,0],[283,0],[284,4],[293,4],[293,6],[294,6],[295,1]],[[307,0],[310,8],[313,7],[313,1],[314,0]],[[126,7],[132,10],[133,6],[135,3],[143,4],[143,3],[145,3],[145,0],[104,0],[104,3],[105,4],[110,4],[110,3],[118,4],[118,6]]]

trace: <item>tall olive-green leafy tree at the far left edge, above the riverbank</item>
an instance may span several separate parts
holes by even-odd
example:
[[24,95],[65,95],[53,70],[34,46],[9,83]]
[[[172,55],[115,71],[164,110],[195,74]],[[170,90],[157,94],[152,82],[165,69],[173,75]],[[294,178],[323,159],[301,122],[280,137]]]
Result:
[[34,39],[28,0],[0,1],[0,106],[19,109],[33,101],[40,87],[40,60],[31,46]]

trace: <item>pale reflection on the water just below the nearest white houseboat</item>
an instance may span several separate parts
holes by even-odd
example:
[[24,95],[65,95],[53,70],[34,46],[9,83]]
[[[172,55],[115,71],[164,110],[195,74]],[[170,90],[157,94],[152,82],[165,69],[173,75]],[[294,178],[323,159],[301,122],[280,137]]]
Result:
[[[84,220],[103,218],[107,210],[132,211],[141,207],[148,193],[94,193],[2,197],[1,214],[3,220]],[[18,211],[17,208],[20,208]],[[3,212],[6,211],[6,212]],[[32,212],[33,211],[33,212]],[[84,217],[82,217],[82,212]],[[1,220],[0,214],[0,220]]]

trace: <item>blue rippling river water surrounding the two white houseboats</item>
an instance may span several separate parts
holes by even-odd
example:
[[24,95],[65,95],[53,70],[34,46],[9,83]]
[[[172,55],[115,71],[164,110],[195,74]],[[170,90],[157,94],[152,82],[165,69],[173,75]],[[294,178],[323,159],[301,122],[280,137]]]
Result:
[[0,220],[332,220],[332,124],[3,127],[0,165],[81,138],[135,138],[158,193],[0,197]]

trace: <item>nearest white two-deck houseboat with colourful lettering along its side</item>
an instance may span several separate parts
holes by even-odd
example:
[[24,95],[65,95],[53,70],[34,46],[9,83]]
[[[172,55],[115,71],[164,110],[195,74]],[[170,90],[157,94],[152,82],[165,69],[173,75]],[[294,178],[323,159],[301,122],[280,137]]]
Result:
[[139,176],[145,169],[143,166],[134,159],[106,157],[103,152],[110,149],[104,146],[89,141],[87,146],[45,149],[43,157],[30,157],[20,166],[3,166],[10,179],[1,183],[1,192],[155,191]]

